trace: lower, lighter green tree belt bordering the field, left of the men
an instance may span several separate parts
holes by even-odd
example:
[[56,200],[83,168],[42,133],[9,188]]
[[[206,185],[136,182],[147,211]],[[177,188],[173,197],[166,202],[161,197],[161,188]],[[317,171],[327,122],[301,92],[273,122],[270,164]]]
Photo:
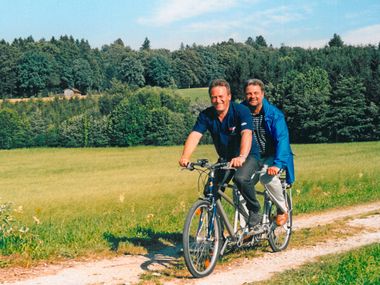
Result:
[[101,97],[3,102],[0,148],[176,145],[193,118],[172,89],[114,82]]

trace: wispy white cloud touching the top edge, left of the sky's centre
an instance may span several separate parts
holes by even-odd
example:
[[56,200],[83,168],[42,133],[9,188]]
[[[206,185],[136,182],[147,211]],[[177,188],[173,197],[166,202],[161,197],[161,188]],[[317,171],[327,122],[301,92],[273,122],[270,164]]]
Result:
[[209,12],[222,11],[237,4],[237,0],[169,0],[159,6],[149,18],[139,18],[141,24],[166,25]]

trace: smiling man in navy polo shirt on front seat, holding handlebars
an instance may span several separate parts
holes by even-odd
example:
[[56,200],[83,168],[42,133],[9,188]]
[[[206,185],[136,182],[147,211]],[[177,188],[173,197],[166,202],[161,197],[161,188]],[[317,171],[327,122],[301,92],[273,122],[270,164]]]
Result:
[[[186,140],[179,164],[184,167],[188,165],[191,154],[208,130],[220,160],[230,161],[231,166],[237,168],[234,182],[247,203],[248,225],[254,227],[260,222],[260,203],[256,199],[251,177],[259,168],[259,148],[252,139],[251,113],[247,107],[231,102],[230,85],[225,80],[213,80],[209,86],[209,95],[212,106],[199,114]],[[220,171],[216,178],[219,183],[224,183],[232,175],[233,173]]]

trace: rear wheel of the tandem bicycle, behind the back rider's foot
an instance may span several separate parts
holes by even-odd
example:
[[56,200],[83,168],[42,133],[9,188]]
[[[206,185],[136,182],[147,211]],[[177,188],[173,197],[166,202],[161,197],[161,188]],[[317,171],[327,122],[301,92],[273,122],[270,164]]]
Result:
[[288,195],[286,196],[286,202],[288,207],[288,220],[283,226],[277,226],[275,221],[276,206],[271,206],[271,229],[269,231],[269,245],[274,252],[282,251],[286,249],[289,245],[290,237],[292,235],[292,224],[293,224],[293,211],[292,211],[292,201]]

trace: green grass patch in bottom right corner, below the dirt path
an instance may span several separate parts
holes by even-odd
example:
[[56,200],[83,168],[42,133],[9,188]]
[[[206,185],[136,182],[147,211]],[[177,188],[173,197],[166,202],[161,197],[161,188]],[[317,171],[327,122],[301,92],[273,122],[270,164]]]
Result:
[[380,284],[380,244],[373,244],[277,274],[253,284]]

